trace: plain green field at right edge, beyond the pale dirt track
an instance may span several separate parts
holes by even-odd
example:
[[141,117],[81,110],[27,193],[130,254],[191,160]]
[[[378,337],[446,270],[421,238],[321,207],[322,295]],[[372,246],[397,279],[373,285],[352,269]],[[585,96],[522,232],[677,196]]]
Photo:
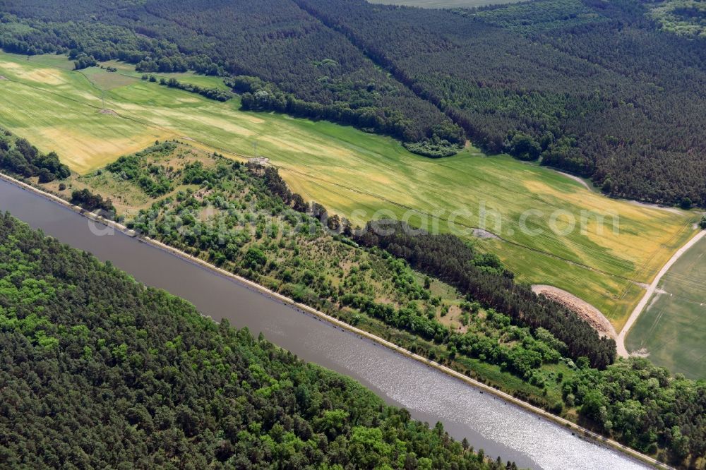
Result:
[[644,348],[659,366],[706,378],[706,239],[674,263],[659,289],[630,330],[628,350]]

